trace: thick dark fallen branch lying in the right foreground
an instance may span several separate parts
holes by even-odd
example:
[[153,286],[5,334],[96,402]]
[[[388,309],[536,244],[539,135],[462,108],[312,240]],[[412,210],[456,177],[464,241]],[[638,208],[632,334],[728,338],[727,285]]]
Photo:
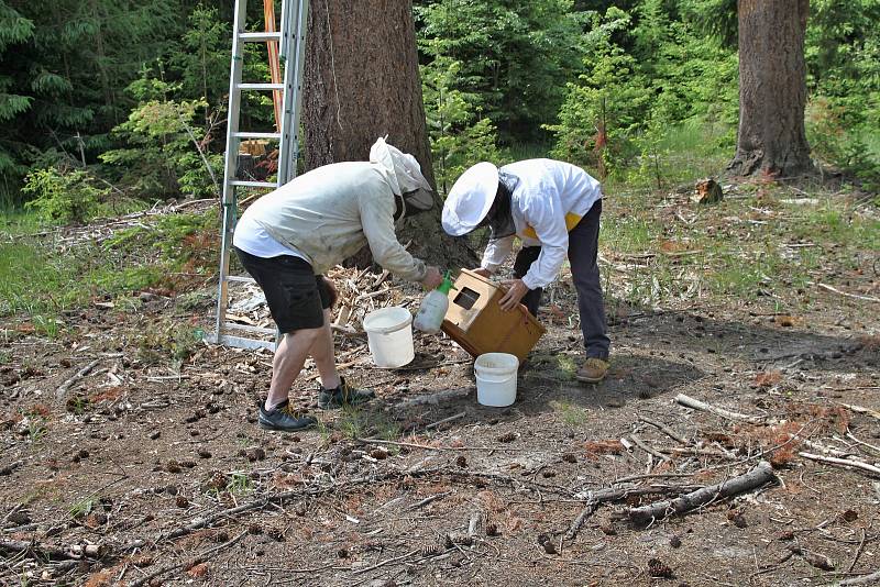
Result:
[[745,494],[774,480],[777,480],[777,476],[773,474],[770,463],[761,461],[758,466],[744,475],[697,489],[673,500],[631,508],[627,511],[627,516],[635,524],[647,525],[653,520],[662,519],[673,513],[686,513],[717,499]]

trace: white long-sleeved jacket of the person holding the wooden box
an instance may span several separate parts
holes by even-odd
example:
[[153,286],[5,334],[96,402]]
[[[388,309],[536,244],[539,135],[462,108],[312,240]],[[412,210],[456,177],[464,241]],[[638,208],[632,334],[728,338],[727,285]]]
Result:
[[519,237],[524,246],[541,247],[522,283],[529,289],[546,287],[565,262],[569,230],[602,198],[602,186],[580,167],[553,159],[520,160],[501,170],[518,179],[510,196],[516,234],[490,241],[481,267],[494,273]]

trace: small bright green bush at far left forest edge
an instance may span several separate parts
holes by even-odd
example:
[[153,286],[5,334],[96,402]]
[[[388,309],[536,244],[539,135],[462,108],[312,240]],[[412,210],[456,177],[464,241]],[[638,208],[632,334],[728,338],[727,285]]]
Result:
[[33,197],[26,208],[35,210],[41,219],[66,224],[91,218],[109,189],[95,187],[85,169],[47,167],[28,174],[22,191]]

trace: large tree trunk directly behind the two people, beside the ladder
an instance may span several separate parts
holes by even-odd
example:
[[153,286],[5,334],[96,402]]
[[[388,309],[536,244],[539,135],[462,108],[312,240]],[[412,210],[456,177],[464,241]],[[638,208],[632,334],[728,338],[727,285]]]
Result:
[[[311,0],[302,123],[306,167],[366,160],[380,136],[421,165],[435,185],[421,100],[421,79],[410,0]],[[473,253],[440,226],[443,202],[406,221],[402,242],[441,267],[470,266]],[[355,256],[358,265],[371,259]]]

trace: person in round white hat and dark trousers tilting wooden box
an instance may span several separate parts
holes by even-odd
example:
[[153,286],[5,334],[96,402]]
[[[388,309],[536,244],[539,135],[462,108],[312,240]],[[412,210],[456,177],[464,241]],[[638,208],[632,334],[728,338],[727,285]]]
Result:
[[475,269],[484,277],[510,255],[515,237],[522,241],[514,279],[505,281],[505,310],[521,302],[537,317],[542,289],[557,278],[568,255],[586,351],[576,377],[586,383],[605,378],[610,346],[596,263],[601,214],[600,182],[580,167],[552,159],[521,160],[501,169],[479,163],[452,186],[442,214],[443,230],[453,236],[490,228],[488,246]]

